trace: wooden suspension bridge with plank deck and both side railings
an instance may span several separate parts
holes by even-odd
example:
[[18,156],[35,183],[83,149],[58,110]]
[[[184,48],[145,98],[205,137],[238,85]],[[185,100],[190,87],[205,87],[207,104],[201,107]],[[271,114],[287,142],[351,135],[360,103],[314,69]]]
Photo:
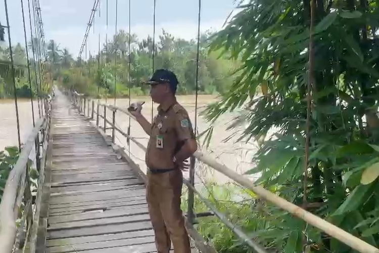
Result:
[[[112,112],[112,121],[99,113],[100,107]],[[128,112],[76,92],[63,94],[59,90],[45,108],[45,116],[36,122],[8,178],[0,203],[0,252],[156,252],[145,199],[145,175],[114,141],[119,132],[145,149],[115,124],[117,111]],[[107,129],[112,130],[111,136],[105,134]],[[39,172],[35,194],[30,191],[28,177],[32,151]],[[353,249],[379,252],[201,152],[194,156]],[[254,252],[267,252],[231,224],[189,182],[185,184],[188,194],[198,194],[211,211],[198,217],[217,216]],[[188,212],[186,227],[194,252],[216,252],[194,228],[192,211]]]

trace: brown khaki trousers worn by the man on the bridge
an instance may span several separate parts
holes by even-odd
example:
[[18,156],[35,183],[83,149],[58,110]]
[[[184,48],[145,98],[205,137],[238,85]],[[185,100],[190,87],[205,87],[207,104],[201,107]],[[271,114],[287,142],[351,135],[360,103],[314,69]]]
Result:
[[180,170],[152,174],[148,170],[146,198],[158,253],[191,253],[180,209],[183,175]]

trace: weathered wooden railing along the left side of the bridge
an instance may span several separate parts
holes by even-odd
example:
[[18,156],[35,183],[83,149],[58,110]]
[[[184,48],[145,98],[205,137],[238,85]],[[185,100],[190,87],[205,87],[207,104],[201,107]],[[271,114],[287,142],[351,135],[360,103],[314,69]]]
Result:
[[[49,143],[51,100],[45,101],[45,116],[35,126],[21,149],[7,179],[0,203],[0,252],[34,252]],[[36,182],[30,177],[32,150],[35,151]],[[37,186],[36,195],[31,186]]]

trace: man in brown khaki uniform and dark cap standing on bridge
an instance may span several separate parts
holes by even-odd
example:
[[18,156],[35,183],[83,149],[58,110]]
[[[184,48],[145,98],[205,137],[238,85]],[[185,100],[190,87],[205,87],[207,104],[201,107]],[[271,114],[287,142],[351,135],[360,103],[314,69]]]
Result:
[[151,85],[153,101],[159,104],[158,114],[151,124],[141,114],[140,105],[131,113],[150,135],[146,152],[147,201],[155,242],[158,253],[168,253],[171,240],[175,253],[190,253],[180,209],[181,169],[184,160],[196,151],[197,143],[188,113],[175,98],[175,74],[159,69],[147,83]]

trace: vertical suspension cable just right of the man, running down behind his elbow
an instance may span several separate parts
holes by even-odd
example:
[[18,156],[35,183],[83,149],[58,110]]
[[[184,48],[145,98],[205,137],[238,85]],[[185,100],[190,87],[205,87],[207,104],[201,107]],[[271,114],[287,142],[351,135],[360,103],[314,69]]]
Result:
[[[196,52],[196,90],[195,90],[195,139],[197,137],[198,128],[198,92],[199,92],[199,55],[200,55],[200,21],[201,21],[201,0],[199,0],[199,12],[198,12],[198,41]],[[194,156],[191,156],[191,163],[189,167],[189,183],[195,186],[195,162]],[[193,224],[194,222],[194,192],[188,191],[188,221]]]

